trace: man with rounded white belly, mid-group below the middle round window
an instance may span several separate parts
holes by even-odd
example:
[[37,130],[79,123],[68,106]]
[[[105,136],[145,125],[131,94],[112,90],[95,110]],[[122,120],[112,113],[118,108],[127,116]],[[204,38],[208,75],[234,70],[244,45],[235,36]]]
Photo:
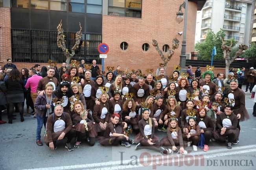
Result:
[[132,92],[134,94],[134,101],[136,105],[140,105],[141,102],[145,102],[147,96],[149,96],[149,86],[145,84],[145,79],[143,77],[139,78],[139,82],[135,83]]

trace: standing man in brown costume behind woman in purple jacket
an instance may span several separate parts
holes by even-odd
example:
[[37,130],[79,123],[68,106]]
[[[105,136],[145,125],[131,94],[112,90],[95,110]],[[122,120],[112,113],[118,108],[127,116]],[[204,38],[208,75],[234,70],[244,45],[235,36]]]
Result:
[[50,67],[47,71],[47,76],[40,79],[37,86],[37,94],[38,95],[44,95],[45,91],[45,85],[50,82],[50,84],[53,85],[53,91],[56,90],[56,87],[59,85],[58,80],[53,77],[55,74],[55,69],[53,67]]

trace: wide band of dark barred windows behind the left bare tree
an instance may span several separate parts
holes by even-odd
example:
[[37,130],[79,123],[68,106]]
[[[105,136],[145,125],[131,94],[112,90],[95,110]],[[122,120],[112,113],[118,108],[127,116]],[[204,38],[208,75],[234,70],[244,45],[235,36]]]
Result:
[[[57,47],[57,32],[12,30],[12,60],[13,62],[47,62],[52,59],[57,63],[65,62],[66,58],[61,48]],[[64,33],[66,47],[71,53],[76,43],[76,33]],[[83,34],[82,40],[72,59],[85,59],[87,63],[99,58],[98,45],[101,35]]]

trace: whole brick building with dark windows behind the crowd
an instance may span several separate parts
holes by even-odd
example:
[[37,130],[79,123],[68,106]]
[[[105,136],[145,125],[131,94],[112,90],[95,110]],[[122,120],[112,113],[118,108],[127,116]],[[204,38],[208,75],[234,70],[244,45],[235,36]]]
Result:
[[[2,2],[1,2],[2,1]],[[56,27],[63,20],[66,45],[72,48],[79,22],[83,27],[83,39],[73,57],[93,59],[101,64],[97,46],[109,45],[104,66],[129,69],[156,68],[162,61],[152,45],[168,51],[173,38],[180,41],[171,61],[168,73],[179,64],[184,21],[175,21],[176,12],[183,0],[0,0],[0,65],[12,58],[18,69],[34,63],[47,65],[48,59],[64,62],[61,49],[57,48]],[[186,53],[194,50],[197,10],[205,0],[188,1]],[[182,9],[184,12],[184,9]]]

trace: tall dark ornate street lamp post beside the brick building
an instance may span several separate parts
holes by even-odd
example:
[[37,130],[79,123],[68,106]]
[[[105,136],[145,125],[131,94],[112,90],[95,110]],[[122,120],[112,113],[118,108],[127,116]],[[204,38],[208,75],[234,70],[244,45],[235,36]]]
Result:
[[179,11],[177,12],[176,21],[182,22],[183,21],[183,13],[181,11],[181,8],[185,9],[185,20],[184,20],[184,27],[183,27],[183,38],[182,38],[182,46],[181,46],[181,55],[180,55],[180,72],[186,73],[186,27],[187,27],[187,9],[188,9],[188,0],[186,2],[183,2],[183,4],[180,5]]

